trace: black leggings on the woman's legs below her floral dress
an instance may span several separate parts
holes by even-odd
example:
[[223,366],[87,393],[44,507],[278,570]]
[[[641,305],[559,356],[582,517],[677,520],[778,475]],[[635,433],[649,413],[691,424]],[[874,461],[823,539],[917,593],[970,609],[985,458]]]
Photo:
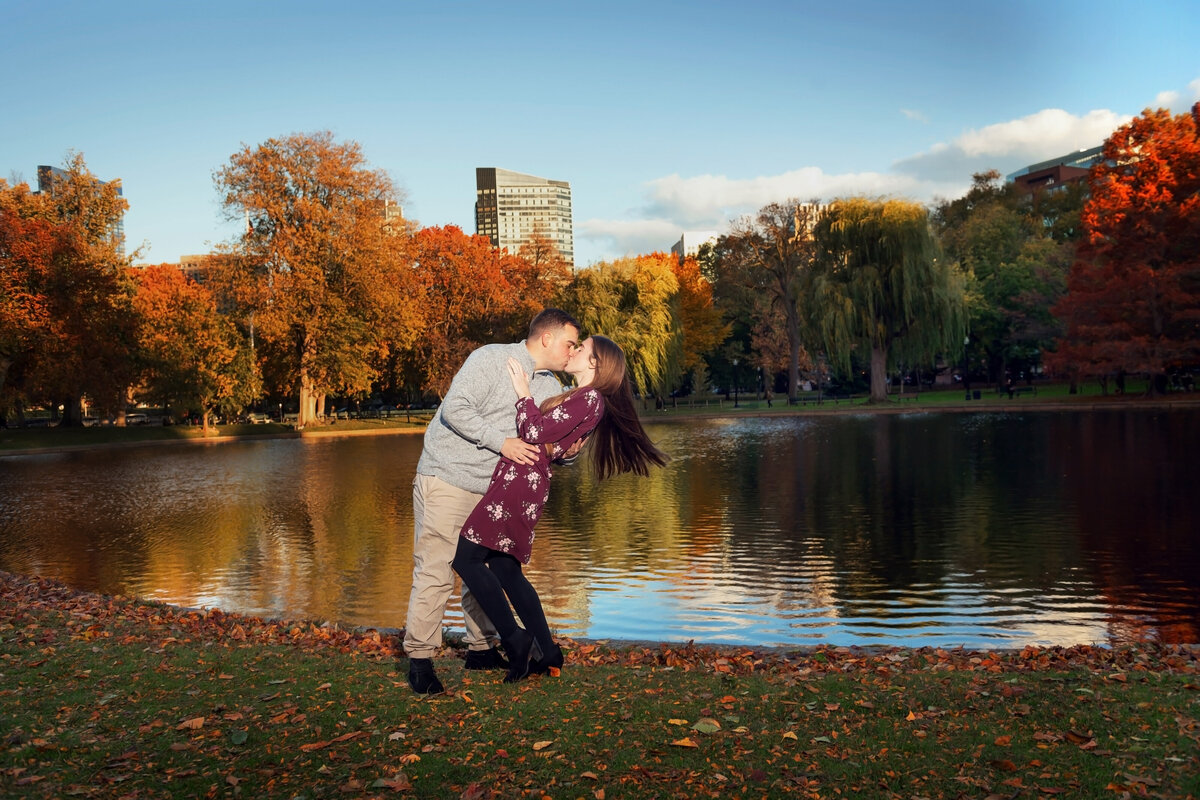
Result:
[[492,620],[500,638],[508,638],[517,630],[517,620],[509,608],[511,602],[526,631],[538,642],[542,652],[550,652],[553,640],[546,613],[541,609],[538,590],[521,571],[521,561],[508,553],[460,536],[458,549],[454,555],[454,571],[467,584],[487,619]]

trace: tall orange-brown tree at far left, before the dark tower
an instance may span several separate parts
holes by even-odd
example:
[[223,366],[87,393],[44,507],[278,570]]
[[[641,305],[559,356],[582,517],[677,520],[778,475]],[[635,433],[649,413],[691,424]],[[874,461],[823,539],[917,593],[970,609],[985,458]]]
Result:
[[[132,284],[121,234],[128,204],[119,181],[96,179],[79,154],[46,179],[37,193],[24,184],[0,186],[6,237],[17,247],[10,252],[24,253],[20,258],[32,270],[24,275],[35,281],[26,288],[44,312],[44,325],[26,337],[19,365],[10,369],[19,367],[22,398],[61,405],[60,425],[76,426],[83,422],[85,398],[122,413],[136,371]],[[17,245],[25,235],[49,249],[37,255],[31,242]]]

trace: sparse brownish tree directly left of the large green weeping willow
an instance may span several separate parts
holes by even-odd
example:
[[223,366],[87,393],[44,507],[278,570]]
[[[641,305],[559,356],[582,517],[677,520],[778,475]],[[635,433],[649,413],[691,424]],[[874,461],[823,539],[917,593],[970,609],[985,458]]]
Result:
[[806,357],[800,300],[815,254],[816,215],[814,203],[772,203],[754,218],[739,221],[712,251],[714,277],[725,284],[720,294],[742,299],[737,305],[751,312],[748,326],[769,325],[786,337],[788,402],[798,397],[800,362]]

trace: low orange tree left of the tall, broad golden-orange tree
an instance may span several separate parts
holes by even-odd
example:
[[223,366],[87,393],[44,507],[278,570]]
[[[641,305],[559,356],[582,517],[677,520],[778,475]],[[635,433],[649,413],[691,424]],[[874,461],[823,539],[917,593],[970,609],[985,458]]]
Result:
[[143,393],[181,414],[233,415],[259,393],[254,354],[234,323],[218,313],[212,293],[178,266],[137,270],[133,307],[139,317]]

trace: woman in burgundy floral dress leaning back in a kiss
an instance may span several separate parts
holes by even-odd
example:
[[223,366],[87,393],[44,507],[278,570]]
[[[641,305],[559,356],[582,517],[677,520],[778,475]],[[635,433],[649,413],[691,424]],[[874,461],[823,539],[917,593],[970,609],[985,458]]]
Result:
[[[649,475],[650,464],[666,463],[637,419],[625,354],[612,339],[584,339],[566,372],[575,378],[575,387],[539,408],[521,365],[509,360],[509,377],[517,392],[517,435],[542,447],[532,465],[500,458],[487,492],[462,527],[454,558],[455,572],[500,634],[509,657],[505,682],[563,664],[563,651],[550,636],[538,591],[521,571],[521,565],[529,563],[533,529],[550,497],[551,462],[582,440],[600,480],[620,473]],[[524,628],[517,625],[509,602]]]

